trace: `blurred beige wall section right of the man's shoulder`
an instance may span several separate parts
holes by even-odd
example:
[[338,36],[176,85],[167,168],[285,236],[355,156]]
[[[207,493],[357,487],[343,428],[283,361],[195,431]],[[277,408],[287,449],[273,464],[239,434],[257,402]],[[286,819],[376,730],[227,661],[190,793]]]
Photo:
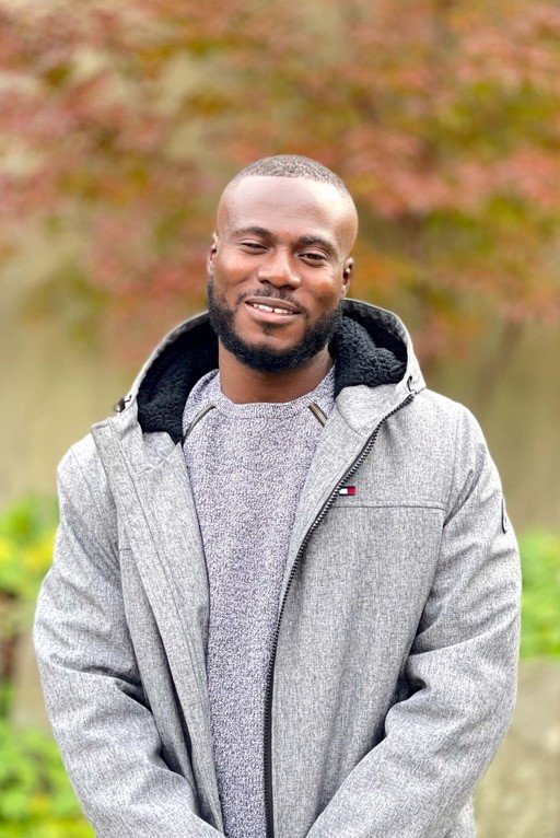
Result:
[[516,528],[560,529],[560,327],[488,330],[468,363],[428,376],[477,416]]

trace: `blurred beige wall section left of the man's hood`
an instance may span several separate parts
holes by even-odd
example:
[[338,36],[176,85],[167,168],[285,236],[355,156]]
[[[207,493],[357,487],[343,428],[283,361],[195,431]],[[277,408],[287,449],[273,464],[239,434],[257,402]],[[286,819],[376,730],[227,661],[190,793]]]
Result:
[[129,376],[101,353],[75,348],[56,324],[7,324],[0,315],[0,503],[55,490],[56,464],[110,412]]

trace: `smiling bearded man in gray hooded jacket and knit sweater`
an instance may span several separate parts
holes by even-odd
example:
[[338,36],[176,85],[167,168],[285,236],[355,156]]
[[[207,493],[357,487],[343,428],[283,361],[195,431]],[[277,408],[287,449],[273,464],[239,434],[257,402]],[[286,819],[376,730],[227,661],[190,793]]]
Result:
[[59,472],[36,648],[102,838],[467,838],[508,725],[518,565],[468,411],[345,301],[339,178],[226,187],[205,314]]

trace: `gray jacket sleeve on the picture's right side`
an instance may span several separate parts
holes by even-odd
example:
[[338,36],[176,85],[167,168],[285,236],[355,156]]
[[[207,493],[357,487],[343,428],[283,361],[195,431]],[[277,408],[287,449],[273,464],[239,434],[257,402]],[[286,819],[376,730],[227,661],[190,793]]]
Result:
[[384,740],[307,838],[471,835],[472,790],[515,700],[521,573],[495,467],[463,408],[453,475],[438,567],[406,662],[412,694],[388,711]]

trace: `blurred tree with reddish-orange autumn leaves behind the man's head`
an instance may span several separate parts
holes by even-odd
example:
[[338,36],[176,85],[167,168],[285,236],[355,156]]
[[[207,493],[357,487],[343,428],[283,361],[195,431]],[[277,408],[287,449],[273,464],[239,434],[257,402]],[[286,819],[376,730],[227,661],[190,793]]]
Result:
[[424,360],[560,317],[552,0],[0,0],[0,258],[127,348],[201,304],[218,190],[275,153],[346,179],[354,292]]

